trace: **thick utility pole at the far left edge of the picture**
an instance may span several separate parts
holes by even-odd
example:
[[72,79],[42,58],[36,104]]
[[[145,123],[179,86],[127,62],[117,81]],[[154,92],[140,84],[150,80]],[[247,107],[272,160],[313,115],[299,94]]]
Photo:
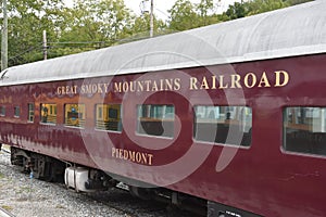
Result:
[[7,0],[2,0],[3,24],[1,28],[1,71],[8,68],[8,14]]

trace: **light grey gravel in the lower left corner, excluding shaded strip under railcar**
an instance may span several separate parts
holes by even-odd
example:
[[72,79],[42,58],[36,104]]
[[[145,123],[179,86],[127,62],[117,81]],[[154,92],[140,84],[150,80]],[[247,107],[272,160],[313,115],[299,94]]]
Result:
[[50,216],[129,216],[63,184],[29,179],[10,164],[8,153],[0,153],[0,206],[16,217]]

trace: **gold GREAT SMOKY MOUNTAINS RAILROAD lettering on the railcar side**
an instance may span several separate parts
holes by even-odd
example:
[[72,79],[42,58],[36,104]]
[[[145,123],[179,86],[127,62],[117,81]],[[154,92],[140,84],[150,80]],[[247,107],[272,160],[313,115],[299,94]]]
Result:
[[[284,87],[289,84],[290,75],[286,71],[276,71],[274,84],[271,85],[271,78],[268,78],[267,73],[263,72],[261,77],[258,77],[254,73],[247,73],[243,75],[231,74],[229,76],[220,75],[218,77],[213,75],[211,77],[202,76],[190,77],[189,78],[189,90],[216,90],[216,89],[227,89],[227,88],[271,88]],[[114,82],[114,92],[141,92],[141,91],[178,91],[181,89],[180,78],[162,78],[159,80],[135,80],[135,81],[118,81]],[[74,86],[60,86],[57,87],[55,93],[58,95],[65,94],[95,94],[95,93],[109,93],[110,82],[98,82]]]

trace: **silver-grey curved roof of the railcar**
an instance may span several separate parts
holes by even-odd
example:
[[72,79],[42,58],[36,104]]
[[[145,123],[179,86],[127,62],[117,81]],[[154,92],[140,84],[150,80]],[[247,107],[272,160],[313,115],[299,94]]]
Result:
[[326,1],[10,67],[0,86],[325,53]]

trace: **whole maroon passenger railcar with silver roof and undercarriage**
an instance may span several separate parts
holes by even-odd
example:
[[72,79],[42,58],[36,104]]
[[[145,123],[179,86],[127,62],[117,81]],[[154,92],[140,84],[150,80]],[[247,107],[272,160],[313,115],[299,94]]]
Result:
[[9,68],[0,141],[13,164],[43,179],[65,169],[82,191],[123,181],[208,216],[325,216],[325,11],[314,1]]

